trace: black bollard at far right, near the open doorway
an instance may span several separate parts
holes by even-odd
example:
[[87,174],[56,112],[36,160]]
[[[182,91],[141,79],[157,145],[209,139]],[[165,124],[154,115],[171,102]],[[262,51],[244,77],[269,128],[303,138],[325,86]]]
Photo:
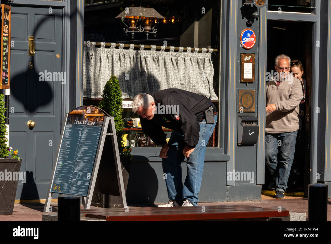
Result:
[[328,213],[328,186],[308,185],[308,221],[326,221]]

